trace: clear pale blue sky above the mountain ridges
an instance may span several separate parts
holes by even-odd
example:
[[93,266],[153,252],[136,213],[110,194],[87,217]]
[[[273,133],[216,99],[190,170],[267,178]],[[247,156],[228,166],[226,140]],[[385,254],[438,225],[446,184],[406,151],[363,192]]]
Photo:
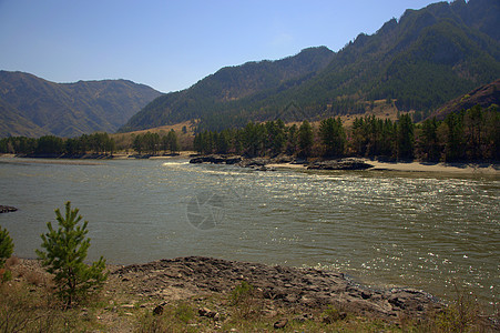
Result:
[[0,0],[0,70],[162,92],[226,65],[338,51],[429,0]]

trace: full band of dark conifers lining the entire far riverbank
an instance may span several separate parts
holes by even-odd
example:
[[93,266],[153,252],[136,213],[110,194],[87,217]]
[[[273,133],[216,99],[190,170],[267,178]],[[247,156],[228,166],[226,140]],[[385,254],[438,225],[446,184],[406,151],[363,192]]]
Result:
[[[182,135],[187,135],[184,129]],[[397,121],[374,115],[356,118],[346,128],[340,118],[327,118],[316,128],[307,120],[286,125],[283,120],[248,122],[244,128],[203,131],[191,144],[181,147],[178,135],[145,132],[116,140],[108,133],[83,134],[63,139],[45,135],[3,138],[0,153],[78,157],[86,153],[109,154],[135,151],[157,155],[178,150],[195,150],[200,154],[242,154],[248,158],[279,154],[308,158],[364,157],[385,160],[420,160],[431,162],[500,160],[500,112],[498,105],[476,105],[445,120],[427,119],[414,123],[409,113]]]

